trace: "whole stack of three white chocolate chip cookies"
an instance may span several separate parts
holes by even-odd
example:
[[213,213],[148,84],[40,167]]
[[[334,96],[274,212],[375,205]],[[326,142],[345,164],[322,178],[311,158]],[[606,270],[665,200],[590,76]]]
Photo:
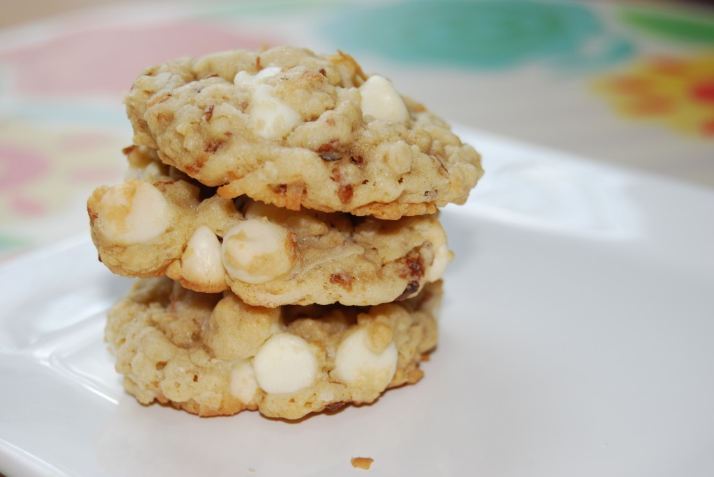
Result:
[[437,207],[481,177],[473,148],[344,53],[181,58],[126,106],[128,178],[87,210],[100,260],[140,278],[106,325],[127,391],[298,419],[421,379]]

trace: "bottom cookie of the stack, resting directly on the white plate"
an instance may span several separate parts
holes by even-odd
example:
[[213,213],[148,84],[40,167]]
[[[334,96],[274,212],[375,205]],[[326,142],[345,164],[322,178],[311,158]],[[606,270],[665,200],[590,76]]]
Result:
[[299,419],[414,384],[436,347],[441,282],[373,307],[252,307],[231,292],[139,279],[107,314],[124,387],[201,416]]

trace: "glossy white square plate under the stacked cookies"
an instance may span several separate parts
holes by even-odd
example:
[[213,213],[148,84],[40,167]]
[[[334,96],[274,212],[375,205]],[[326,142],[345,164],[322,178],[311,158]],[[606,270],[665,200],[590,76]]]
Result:
[[298,424],[141,406],[103,343],[130,280],[82,237],[0,270],[0,471],[714,475],[714,192],[458,133],[487,174],[441,215],[457,258],[419,384]]

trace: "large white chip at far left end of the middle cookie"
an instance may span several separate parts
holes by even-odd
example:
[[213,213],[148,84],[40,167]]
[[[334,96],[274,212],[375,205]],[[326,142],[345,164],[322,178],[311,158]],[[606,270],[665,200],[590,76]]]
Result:
[[171,224],[171,207],[153,185],[130,179],[106,191],[97,205],[96,227],[117,245],[158,237]]

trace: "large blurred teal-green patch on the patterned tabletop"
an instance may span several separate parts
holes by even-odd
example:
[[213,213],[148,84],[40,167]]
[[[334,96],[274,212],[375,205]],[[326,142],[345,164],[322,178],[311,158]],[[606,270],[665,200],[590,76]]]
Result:
[[363,6],[339,15],[326,31],[346,51],[470,68],[508,68],[541,59],[558,68],[596,68],[633,52],[630,42],[610,31],[595,11],[550,1],[416,0]]

